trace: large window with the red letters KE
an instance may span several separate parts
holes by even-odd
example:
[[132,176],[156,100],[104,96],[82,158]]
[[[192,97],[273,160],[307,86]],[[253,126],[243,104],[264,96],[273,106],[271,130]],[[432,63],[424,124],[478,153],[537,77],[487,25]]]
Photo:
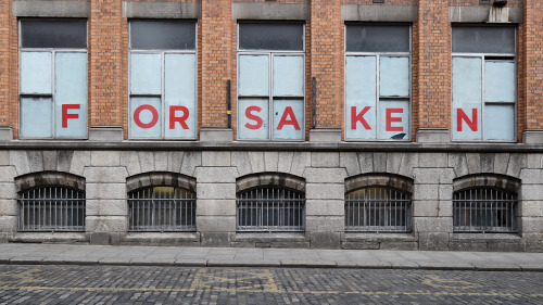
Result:
[[411,27],[345,27],[345,139],[408,140]]

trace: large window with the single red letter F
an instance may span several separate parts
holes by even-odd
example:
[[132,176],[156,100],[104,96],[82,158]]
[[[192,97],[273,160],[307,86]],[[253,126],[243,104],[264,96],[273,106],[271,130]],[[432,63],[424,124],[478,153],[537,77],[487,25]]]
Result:
[[86,138],[87,22],[20,25],[21,138]]

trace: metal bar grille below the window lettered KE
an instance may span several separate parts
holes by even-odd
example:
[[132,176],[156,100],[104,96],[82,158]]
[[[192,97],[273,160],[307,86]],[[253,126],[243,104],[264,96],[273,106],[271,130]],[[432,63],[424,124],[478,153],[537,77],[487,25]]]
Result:
[[345,194],[345,230],[408,232],[411,194],[391,188],[363,188]]

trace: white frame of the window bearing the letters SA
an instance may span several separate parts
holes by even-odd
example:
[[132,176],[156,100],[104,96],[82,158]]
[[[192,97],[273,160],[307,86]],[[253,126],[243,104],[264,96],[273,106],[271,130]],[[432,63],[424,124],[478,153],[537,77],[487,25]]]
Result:
[[[273,24],[273,23],[270,23]],[[283,51],[283,50],[251,50],[251,49],[240,49],[240,46],[239,46],[239,42],[240,42],[240,39],[239,39],[239,25],[240,23],[238,23],[237,25],[237,29],[238,29],[238,33],[237,33],[237,37],[238,37],[238,43],[237,43],[237,51],[238,51],[238,55],[237,55],[237,61],[238,61],[238,64],[237,64],[237,94],[236,94],[236,99],[237,99],[237,105],[238,105],[238,117],[241,115],[239,113],[239,101],[240,99],[251,99],[251,98],[257,98],[257,99],[265,99],[266,97],[264,96],[240,96],[239,93],[239,88],[240,88],[240,56],[241,55],[267,55],[269,58],[269,61],[268,61],[268,137],[267,139],[260,139],[260,138],[245,138],[245,139],[239,139],[238,137],[238,140],[239,141],[285,141],[285,142],[303,142],[305,141],[305,112],[306,112],[306,102],[305,102],[305,96],[306,96],[306,87],[305,87],[305,78],[306,78],[306,75],[305,75],[305,24],[301,24],[302,25],[302,33],[303,33],[303,37],[302,37],[302,46],[303,46],[303,50],[302,51]],[[295,55],[295,56],[302,56],[303,58],[303,62],[304,62],[304,65],[303,65],[303,96],[302,97],[279,97],[279,99],[282,99],[282,100],[303,100],[303,122],[299,122],[300,124],[300,128],[302,129],[302,139],[274,139],[274,58],[275,56],[289,56],[289,55]],[[238,128],[238,135],[239,135],[239,130],[240,130],[240,119],[237,119],[237,128]]]

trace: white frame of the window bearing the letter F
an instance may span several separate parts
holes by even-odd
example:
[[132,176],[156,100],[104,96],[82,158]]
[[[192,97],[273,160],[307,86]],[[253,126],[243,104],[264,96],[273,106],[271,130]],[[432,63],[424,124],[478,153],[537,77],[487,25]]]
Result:
[[[25,20],[39,20],[39,18],[20,18],[18,20],[18,125],[20,125],[20,128],[18,128],[18,138],[20,139],[25,139],[25,140],[37,140],[37,139],[66,139],[66,140],[84,140],[84,139],[87,139],[88,138],[88,124],[87,124],[87,136],[85,137],[56,137],[56,111],[55,111],[55,105],[56,105],[56,101],[55,101],[55,87],[56,87],[56,84],[55,84],[55,60],[56,60],[56,52],[60,52],[60,53],[85,53],[87,54],[87,74],[89,72],[89,68],[88,68],[88,47],[89,47],[89,35],[88,35],[88,28],[89,28],[89,23],[88,23],[88,20],[85,20],[85,26],[86,26],[86,43],[87,43],[87,48],[86,49],[78,49],[78,48],[23,48],[23,27],[22,27],[22,23],[23,21]],[[58,20],[58,18],[55,18]],[[80,21],[84,21],[84,18],[77,18],[77,20],[80,20]],[[22,53],[24,52],[49,52],[51,53],[51,94],[28,94],[28,93],[22,93],[22,81],[21,81],[21,67],[22,67]],[[88,84],[88,76],[87,76],[87,84]],[[88,86],[87,86],[88,88]],[[88,91],[87,91],[88,92]],[[87,93],[88,94],[88,93]],[[51,116],[51,132],[52,132],[52,136],[51,137],[24,137],[22,134],[21,134],[21,124],[23,122],[22,119],[22,111],[21,111],[21,103],[22,103],[22,100],[24,98],[51,98],[51,112],[52,112],[52,116]],[[88,104],[89,104],[89,100],[87,98],[87,119],[88,119]]]

